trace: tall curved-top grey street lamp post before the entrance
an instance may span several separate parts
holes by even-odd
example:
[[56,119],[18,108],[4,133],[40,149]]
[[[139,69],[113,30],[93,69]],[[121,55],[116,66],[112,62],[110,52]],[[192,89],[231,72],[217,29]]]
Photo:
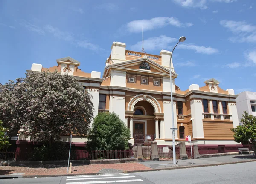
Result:
[[[186,37],[180,37],[179,42],[175,45],[175,47],[180,43],[186,40]],[[175,47],[172,49],[172,53],[175,49]],[[172,54],[170,58],[170,81],[171,81],[171,108],[172,108],[172,151],[173,151],[173,164],[176,165],[176,150],[175,150],[175,129],[174,129],[174,112],[173,112],[173,99],[172,99]]]

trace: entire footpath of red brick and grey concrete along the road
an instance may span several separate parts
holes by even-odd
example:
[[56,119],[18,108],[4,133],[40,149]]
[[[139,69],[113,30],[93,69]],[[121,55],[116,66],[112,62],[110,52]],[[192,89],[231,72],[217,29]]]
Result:
[[[168,161],[141,161],[120,164],[91,164],[74,165],[72,172],[67,173],[67,165],[44,165],[44,166],[0,166],[0,178],[3,176],[18,175],[23,178],[52,177],[67,175],[96,175],[112,173],[131,173],[154,170],[172,170],[192,167],[207,167],[224,164],[236,164],[241,162],[256,161],[253,155],[228,155],[220,157],[200,158],[192,160],[177,160],[174,166],[172,160]],[[256,164],[256,163],[255,163]]]

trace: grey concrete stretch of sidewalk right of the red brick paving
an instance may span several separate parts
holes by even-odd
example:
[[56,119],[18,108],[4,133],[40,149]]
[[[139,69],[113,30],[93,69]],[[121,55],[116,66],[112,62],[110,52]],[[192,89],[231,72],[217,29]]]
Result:
[[210,157],[210,158],[200,158],[192,160],[177,160],[177,166],[173,165],[173,161],[143,161],[140,164],[145,165],[146,167],[150,167],[151,169],[164,169],[164,168],[172,168],[172,167],[192,167],[192,166],[207,166],[213,164],[231,164],[237,162],[245,162],[245,161],[256,161],[253,158],[253,155],[228,155],[228,156],[220,156],[220,157]]

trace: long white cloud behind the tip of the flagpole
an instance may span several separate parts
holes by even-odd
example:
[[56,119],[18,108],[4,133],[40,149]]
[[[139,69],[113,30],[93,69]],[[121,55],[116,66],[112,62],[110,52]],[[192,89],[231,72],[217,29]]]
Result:
[[125,25],[124,30],[128,30],[128,32],[141,32],[142,26],[143,26],[143,31],[148,31],[148,30],[153,30],[157,28],[162,28],[167,25],[172,25],[175,27],[190,27],[193,24],[181,23],[175,17],[155,17],[151,19],[131,21]]

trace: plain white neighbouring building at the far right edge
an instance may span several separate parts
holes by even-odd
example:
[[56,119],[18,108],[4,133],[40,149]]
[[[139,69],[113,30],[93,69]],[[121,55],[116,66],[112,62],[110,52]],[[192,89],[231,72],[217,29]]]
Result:
[[241,92],[236,98],[239,123],[243,118],[244,111],[256,116],[256,92]]

